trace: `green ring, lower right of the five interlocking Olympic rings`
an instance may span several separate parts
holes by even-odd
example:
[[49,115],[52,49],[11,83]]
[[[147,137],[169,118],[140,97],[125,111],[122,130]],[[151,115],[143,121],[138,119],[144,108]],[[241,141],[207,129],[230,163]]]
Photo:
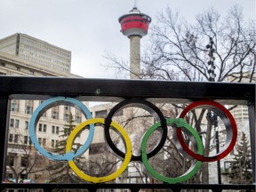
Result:
[[[199,155],[203,155],[204,149],[203,149],[202,140],[200,139],[198,133],[189,124],[185,123],[184,120],[181,118],[178,118],[178,119],[169,118],[169,119],[166,119],[166,122],[167,122],[167,124],[175,124],[177,127],[181,128],[183,130],[185,129],[184,131],[190,132],[193,135],[193,137],[196,139],[197,153]],[[146,152],[147,141],[148,141],[148,138],[151,135],[151,133],[154,132],[160,126],[161,126],[160,122],[153,124],[148,129],[148,131],[145,133],[145,135],[143,136],[143,138],[141,140],[140,152],[141,152],[141,156],[142,156],[142,162],[143,162],[145,168],[147,169],[148,173],[152,177],[154,177],[156,180],[161,180],[161,181],[164,181],[164,182],[170,183],[170,184],[180,183],[182,181],[190,179],[200,169],[202,162],[195,160],[196,162],[194,162],[194,164],[191,164],[191,167],[188,169],[187,172],[185,172],[184,174],[182,174],[181,176],[176,177],[176,178],[169,178],[169,177],[165,177],[164,175],[159,174],[148,163],[148,156],[147,156],[147,152]]]

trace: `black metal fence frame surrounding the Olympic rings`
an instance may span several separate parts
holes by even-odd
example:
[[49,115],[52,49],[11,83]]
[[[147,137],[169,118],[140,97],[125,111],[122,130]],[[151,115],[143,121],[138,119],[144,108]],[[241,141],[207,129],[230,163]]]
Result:
[[213,184],[0,184],[6,188],[41,188],[52,191],[57,188],[126,188],[139,191],[150,189],[211,189],[212,191],[255,191],[255,84],[190,83],[142,80],[110,80],[63,77],[0,76],[0,180],[5,177],[5,159],[8,143],[10,100],[46,100],[54,96],[74,97],[86,101],[120,101],[146,99],[153,102],[189,103],[195,100],[214,100],[227,105],[246,105],[249,111],[252,151],[253,185]]

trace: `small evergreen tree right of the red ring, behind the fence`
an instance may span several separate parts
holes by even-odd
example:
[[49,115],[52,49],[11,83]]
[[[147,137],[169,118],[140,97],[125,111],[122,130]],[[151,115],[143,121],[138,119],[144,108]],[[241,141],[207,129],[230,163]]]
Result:
[[237,154],[231,164],[229,173],[230,183],[252,184],[252,157],[249,141],[244,132],[239,143],[236,144]]

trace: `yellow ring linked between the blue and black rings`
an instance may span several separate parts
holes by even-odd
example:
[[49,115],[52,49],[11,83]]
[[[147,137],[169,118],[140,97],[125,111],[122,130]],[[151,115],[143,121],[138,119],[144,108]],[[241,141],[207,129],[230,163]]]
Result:
[[[78,124],[76,126],[76,128],[73,130],[73,132],[71,132],[71,134],[68,137],[66,152],[67,153],[71,152],[72,144],[73,144],[73,142],[76,138],[76,134],[78,132],[80,132],[85,126],[87,126],[89,124],[96,124],[96,123],[105,124],[105,119],[104,118],[92,118],[92,119],[89,119],[89,120],[83,122],[82,124]],[[130,163],[131,158],[132,158],[132,142],[131,142],[127,132],[124,131],[124,128],[120,124],[117,124],[114,121],[112,121],[110,126],[115,128],[118,132],[120,132],[124,139],[124,145],[126,147],[126,154],[124,156],[124,162],[119,167],[119,169],[116,170],[116,172],[113,172],[112,174],[110,174],[108,176],[98,178],[98,177],[92,177],[90,175],[85,174],[80,169],[78,169],[78,167],[74,163],[73,159],[69,160],[68,164],[69,164],[70,168],[73,170],[73,172],[76,173],[77,176],[79,176],[83,180],[90,181],[92,183],[101,183],[101,182],[107,182],[109,180],[115,180],[120,174],[122,174],[122,172],[125,171],[128,164]]]

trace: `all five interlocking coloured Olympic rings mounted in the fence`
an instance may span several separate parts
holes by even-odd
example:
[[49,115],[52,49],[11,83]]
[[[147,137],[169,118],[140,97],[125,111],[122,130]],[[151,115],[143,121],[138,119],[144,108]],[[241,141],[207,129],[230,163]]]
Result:
[[[66,154],[64,155],[52,154],[48,152],[47,150],[40,146],[36,139],[36,124],[38,123],[40,117],[44,114],[44,112],[47,109],[58,105],[68,105],[71,107],[78,108],[87,118],[87,120],[83,123],[76,125],[76,128],[68,136]],[[147,110],[150,113],[150,115],[156,117],[157,120],[156,124],[153,124],[141,138],[140,155],[138,156],[132,155],[132,142],[128,136],[128,133],[124,131],[124,128],[120,124],[117,124],[115,121],[112,121],[112,117],[115,116],[115,114],[119,110],[129,107],[143,108]],[[220,116],[220,119],[222,120],[223,124],[226,127],[227,140],[225,146],[220,150],[220,152],[216,156],[203,155],[204,147],[201,138],[199,137],[196,130],[193,129],[188,123],[185,123],[183,120],[184,117],[188,114],[188,112],[195,108],[205,108],[211,110],[213,113]],[[116,172],[113,172],[103,177],[92,177],[85,174],[76,166],[74,162],[74,158],[76,158],[77,156],[81,156],[88,148],[90,148],[90,145],[92,144],[92,140],[94,137],[94,124],[102,124],[104,126],[105,141],[107,142],[109,148],[113,150],[116,156],[123,158],[123,164],[121,164],[121,166],[116,170]],[[148,159],[152,156],[155,156],[164,147],[164,143],[167,139],[168,133],[167,125],[172,125],[173,127],[172,138],[180,153],[194,158],[194,160],[191,161],[191,166],[188,169],[188,171],[176,178],[169,178],[165,177],[164,175],[161,175],[159,172],[156,172],[156,170],[154,170],[154,168],[148,163]],[[121,140],[123,140],[124,142],[125,153],[122,152],[120,149],[116,148],[116,145],[110,137],[110,128],[114,129],[114,131],[120,135]],[[81,148],[79,148],[76,152],[73,152],[71,148],[74,140],[76,139],[76,135],[83,129],[89,130],[87,140],[85,140]],[[156,147],[147,153],[147,141],[150,135],[156,130],[159,130],[161,132],[161,139],[158,140]],[[193,145],[194,151],[188,148],[187,144],[183,140],[182,132],[184,132],[188,136],[189,141],[191,141]],[[184,108],[184,110],[180,113],[180,116],[178,116],[177,119],[166,119],[163,113],[160,111],[160,109],[148,100],[123,100],[119,102],[114,108],[112,108],[109,111],[108,116],[104,119],[92,118],[92,114],[89,111],[89,109],[86,108],[84,104],[79,100],[66,97],[54,97],[52,99],[45,100],[41,105],[39,105],[38,108],[36,108],[35,112],[33,113],[30,119],[29,136],[30,140],[34,143],[34,146],[37,149],[37,151],[40,152],[43,156],[46,156],[56,161],[68,161],[68,165],[73,170],[73,172],[76,173],[77,176],[79,176],[83,180],[87,180],[92,183],[100,183],[107,182],[109,180],[115,180],[116,177],[118,177],[122,172],[124,172],[124,170],[127,168],[128,164],[131,161],[140,161],[142,164],[144,164],[148,173],[152,177],[156,178],[156,180],[161,180],[167,183],[178,183],[188,180],[193,175],[195,175],[198,169],[200,169],[202,162],[217,161],[223,158],[224,156],[227,156],[228,153],[231,152],[231,150],[234,148],[236,144],[237,128],[235,119],[229,113],[228,109],[220,105],[220,103],[209,100],[196,101],[189,104],[188,107]]]

